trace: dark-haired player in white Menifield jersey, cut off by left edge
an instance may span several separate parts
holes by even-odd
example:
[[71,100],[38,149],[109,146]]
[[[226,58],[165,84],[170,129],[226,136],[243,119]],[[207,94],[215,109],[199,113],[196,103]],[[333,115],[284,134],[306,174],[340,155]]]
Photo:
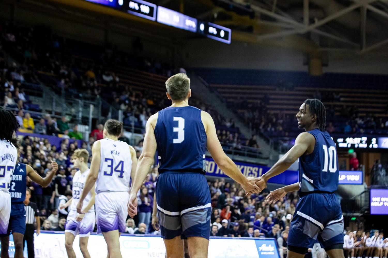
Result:
[[7,233],[11,212],[9,186],[17,163],[17,150],[11,140],[17,128],[15,115],[0,107],[0,234]]

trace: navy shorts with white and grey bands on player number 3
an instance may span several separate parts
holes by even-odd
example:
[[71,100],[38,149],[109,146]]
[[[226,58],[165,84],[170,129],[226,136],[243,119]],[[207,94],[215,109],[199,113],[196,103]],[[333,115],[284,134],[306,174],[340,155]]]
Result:
[[203,174],[164,172],[156,183],[156,203],[163,239],[210,237],[211,198]]

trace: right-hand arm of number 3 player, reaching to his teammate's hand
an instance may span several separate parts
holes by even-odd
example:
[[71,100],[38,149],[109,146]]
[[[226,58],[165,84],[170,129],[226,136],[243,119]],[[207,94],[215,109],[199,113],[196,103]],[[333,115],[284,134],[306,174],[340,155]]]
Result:
[[220,141],[218,141],[216,127],[211,116],[207,112],[202,111],[201,118],[206,131],[206,148],[218,167],[227,176],[241,184],[246,192],[250,194],[259,193],[262,189],[256,186],[256,179],[253,177],[246,178],[237,168],[236,164],[223,151]]

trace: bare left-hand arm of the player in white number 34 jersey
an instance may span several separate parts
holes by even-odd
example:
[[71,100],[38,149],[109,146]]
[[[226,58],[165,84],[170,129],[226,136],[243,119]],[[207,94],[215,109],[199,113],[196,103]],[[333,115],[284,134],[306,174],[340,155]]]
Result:
[[92,190],[95,182],[97,181],[98,171],[100,169],[100,161],[101,161],[100,148],[101,148],[100,141],[96,141],[93,144],[93,148],[92,148],[92,162],[90,163],[90,172],[88,177],[86,178],[85,185],[83,186],[80,200],[78,201],[78,205],[77,205],[78,213],[85,213],[82,211],[83,200],[86,198],[90,190]]

